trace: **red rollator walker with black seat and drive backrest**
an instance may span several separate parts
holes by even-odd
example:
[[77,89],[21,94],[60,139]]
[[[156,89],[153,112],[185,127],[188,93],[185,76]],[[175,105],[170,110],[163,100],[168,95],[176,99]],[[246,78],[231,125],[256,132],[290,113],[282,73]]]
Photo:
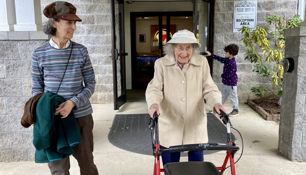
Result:
[[[155,112],[155,114],[153,115],[153,119],[150,119],[150,123],[149,123],[149,128],[151,130],[155,128],[155,144],[153,144],[155,162],[154,162],[153,175],[160,175],[161,172],[166,172],[167,175],[191,175],[191,174],[192,175],[222,175],[224,173],[224,170],[228,167],[230,167],[232,175],[236,175],[236,172],[235,172],[236,162],[234,162],[234,155],[239,150],[239,147],[236,146],[235,143],[232,142],[232,139],[230,136],[230,128],[232,127],[232,124],[230,122],[229,116],[223,111],[221,111],[220,115],[221,115],[220,119],[222,119],[223,124],[225,124],[227,128],[227,137],[228,137],[227,144],[224,144],[224,143],[197,143],[197,144],[189,144],[189,145],[170,146],[169,148],[160,149],[159,148],[159,137],[158,137],[158,115]],[[243,142],[242,142],[242,146],[243,146]],[[226,157],[224,159],[222,166],[220,167],[216,167],[211,162],[173,162],[173,163],[167,163],[166,165],[164,165],[164,169],[160,168],[160,156],[162,152],[173,153],[173,152],[198,151],[198,150],[225,150]],[[243,147],[242,147],[242,152],[243,152]],[[241,155],[242,155],[242,152],[241,152]],[[237,160],[237,162],[239,161],[239,159]],[[230,166],[226,167],[228,161],[230,161]]]

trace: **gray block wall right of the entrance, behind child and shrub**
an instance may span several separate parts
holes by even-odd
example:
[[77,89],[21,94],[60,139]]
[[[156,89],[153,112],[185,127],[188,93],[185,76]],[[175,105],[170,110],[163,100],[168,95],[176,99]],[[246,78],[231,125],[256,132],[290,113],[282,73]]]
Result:
[[[228,44],[237,44],[239,46],[239,53],[235,57],[237,61],[237,75],[238,75],[238,99],[240,102],[246,102],[248,97],[254,98],[251,92],[252,86],[267,86],[273,88],[271,82],[267,79],[261,78],[256,73],[253,73],[253,64],[244,60],[247,56],[247,48],[240,39],[243,37],[241,33],[233,33],[233,4],[230,0],[216,0],[215,1],[215,21],[214,21],[214,48],[213,52],[219,56],[225,57],[223,48]],[[257,1],[257,25],[267,26],[264,21],[265,15],[278,14],[288,18],[297,14],[297,0],[258,0]],[[213,78],[218,87],[222,88],[221,74],[223,71],[223,64],[214,60],[213,64]],[[229,98],[227,99],[229,101]]]

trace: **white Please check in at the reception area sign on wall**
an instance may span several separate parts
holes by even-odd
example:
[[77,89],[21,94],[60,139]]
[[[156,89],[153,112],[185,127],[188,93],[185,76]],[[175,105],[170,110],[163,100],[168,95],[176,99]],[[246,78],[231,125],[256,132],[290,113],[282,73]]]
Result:
[[248,26],[251,31],[256,27],[257,1],[234,1],[233,33],[242,26]]

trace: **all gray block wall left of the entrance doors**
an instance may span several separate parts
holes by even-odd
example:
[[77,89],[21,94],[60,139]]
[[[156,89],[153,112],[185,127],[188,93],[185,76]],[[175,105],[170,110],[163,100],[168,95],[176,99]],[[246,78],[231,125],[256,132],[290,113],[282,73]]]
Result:
[[[41,0],[41,9],[55,0]],[[113,101],[110,0],[66,0],[83,20],[77,23],[74,42],[88,48],[96,75],[92,103]],[[43,22],[47,18],[42,14]],[[20,124],[24,104],[31,97],[31,56],[48,36],[42,31],[0,32],[0,162],[33,161],[33,128]]]

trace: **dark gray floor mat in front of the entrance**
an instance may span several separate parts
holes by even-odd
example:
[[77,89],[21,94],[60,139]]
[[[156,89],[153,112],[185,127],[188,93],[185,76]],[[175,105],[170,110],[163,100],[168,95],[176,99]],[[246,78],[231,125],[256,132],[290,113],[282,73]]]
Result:
[[[114,146],[134,153],[153,155],[149,114],[117,114],[108,134],[108,140]],[[153,130],[154,132],[154,130]],[[208,143],[227,143],[225,125],[213,114],[207,113]],[[232,140],[235,136],[231,134]],[[205,150],[212,154],[217,150]],[[182,153],[181,156],[187,156]]]

